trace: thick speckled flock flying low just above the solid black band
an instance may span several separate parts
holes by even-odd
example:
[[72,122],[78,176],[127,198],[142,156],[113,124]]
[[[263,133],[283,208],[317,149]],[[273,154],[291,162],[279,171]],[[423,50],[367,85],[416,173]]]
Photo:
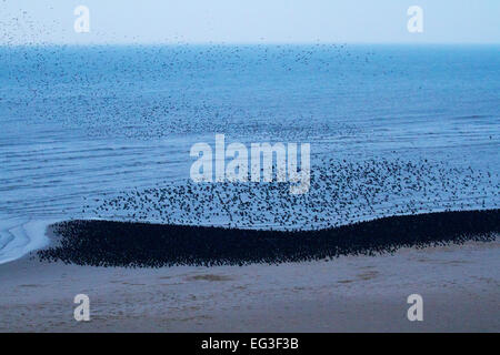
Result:
[[498,175],[429,160],[326,159],[308,193],[290,183],[164,183],[87,201],[82,215],[240,229],[318,230],[376,217],[494,207]]

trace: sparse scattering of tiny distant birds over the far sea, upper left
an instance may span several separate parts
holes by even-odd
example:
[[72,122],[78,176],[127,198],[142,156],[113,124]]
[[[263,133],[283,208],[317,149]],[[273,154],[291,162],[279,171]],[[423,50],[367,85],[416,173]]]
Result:
[[[354,133],[359,128],[328,120],[324,108],[313,108],[311,87],[290,83],[316,78],[343,90],[398,71],[390,55],[346,43],[53,45],[37,39],[59,23],[38,23],[27,11],[10,16],[0,33],[0,78],[11,91],[0,97],[1,108],[27,124],[50,120],[82,129],[91,139]],[[276,90],[280,93],[269,102]]]

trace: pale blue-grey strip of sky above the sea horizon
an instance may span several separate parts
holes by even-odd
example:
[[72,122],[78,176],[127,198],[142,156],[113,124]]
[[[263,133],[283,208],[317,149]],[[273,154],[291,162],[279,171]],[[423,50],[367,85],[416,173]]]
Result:
[[[89,9],[90,32],[73,13]],[[407,11],[423,11],[410,33]],[[500,43],[499,0],[0,0],[0,44]]]

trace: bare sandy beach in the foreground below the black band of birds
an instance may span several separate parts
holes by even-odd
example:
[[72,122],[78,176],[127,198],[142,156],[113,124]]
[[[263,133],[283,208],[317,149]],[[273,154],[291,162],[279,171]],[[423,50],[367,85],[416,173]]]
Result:
[[[500,243],[249,266],[0,265],[1,332],[499,332]],[[409,322],[407,297],[423,297]],[[90,297],[76,322],[73,297]]]

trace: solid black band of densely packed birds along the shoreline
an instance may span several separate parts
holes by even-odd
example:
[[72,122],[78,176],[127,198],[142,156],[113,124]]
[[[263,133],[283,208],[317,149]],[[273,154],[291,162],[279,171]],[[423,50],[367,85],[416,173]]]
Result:
[[61,235],[60,245],[38,252],[42,261],[126,267],[242,266],[488,242],[500,232],[500,210],[391,216],[296,232],[112,221],[70,221],[54,227]]

